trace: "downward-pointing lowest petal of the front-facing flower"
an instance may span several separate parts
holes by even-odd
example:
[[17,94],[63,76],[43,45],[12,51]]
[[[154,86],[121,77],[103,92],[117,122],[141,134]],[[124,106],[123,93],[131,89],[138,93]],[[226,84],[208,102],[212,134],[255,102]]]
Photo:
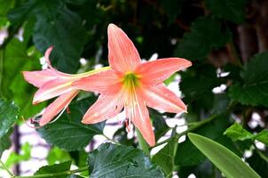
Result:
[[125,107],[126,115],[131,122],[138,128],[144,139],[150,146],[155,145],[154,130],[151,123],[146,103],[136,98],[133,108]]

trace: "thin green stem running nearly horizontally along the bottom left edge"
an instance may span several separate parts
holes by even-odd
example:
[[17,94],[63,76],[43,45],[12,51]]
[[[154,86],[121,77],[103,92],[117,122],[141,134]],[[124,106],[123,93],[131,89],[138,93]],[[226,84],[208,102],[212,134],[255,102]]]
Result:
[[63,172],[59,172],[59,173],[50,173],[50,174],[39,174],[39,175],[29,175],[29,176],[13,176],[14,178],[41,178],[41,177],[56,177],[59,175],[70,175],[70,174],[75,174],[75,173],[80,173],[83,171],[87,171],[88,167],[81,167],[79,169],[75,169],[72,171],[63,171]]

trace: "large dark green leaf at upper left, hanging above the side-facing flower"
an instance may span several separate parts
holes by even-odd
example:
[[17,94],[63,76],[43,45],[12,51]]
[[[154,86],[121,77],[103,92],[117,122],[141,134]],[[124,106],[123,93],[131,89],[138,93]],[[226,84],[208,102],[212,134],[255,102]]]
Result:
[[51,61],[59,70],[74,73],[83,51],[85,30],[81,18],[62,1],[31,0],[9,12],[13,24],[36,18],[33,40],[41,53],[54,45]]

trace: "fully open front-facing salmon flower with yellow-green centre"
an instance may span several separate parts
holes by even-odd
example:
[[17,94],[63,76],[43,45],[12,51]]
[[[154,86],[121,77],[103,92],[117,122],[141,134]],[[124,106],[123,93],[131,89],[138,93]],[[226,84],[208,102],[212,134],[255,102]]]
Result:
[[116,116],[122,109],[149,145],[154,146],[154,131],[146,106],[167,112],[185,112],[186,106],[162,83],[191,61],[166,58],[142,63],[138,51],[121,28],[108,27],[108,59],[111,69],[83,77],[74,86],[100,93],[83,116],[84,124],[94,124]]

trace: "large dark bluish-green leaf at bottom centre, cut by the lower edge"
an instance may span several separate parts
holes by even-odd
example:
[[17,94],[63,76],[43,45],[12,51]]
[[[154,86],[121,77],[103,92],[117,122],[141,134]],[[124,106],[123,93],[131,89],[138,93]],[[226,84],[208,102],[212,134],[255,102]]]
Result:
[[142,150],[104,143],[89,155],[90,177],[164,177]]

